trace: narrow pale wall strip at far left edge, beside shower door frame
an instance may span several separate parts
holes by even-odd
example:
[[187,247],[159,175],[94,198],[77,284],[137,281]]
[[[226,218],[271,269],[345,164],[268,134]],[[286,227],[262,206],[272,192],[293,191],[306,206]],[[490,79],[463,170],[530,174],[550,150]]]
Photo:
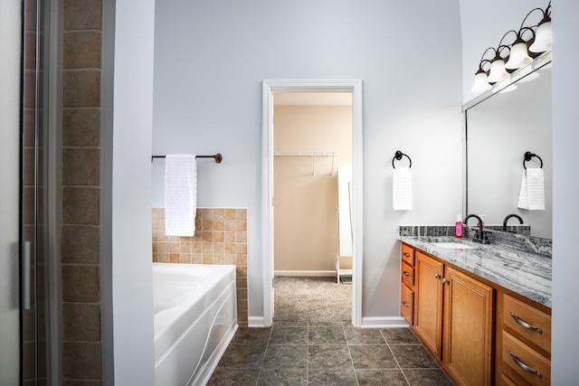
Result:
[[20,185],[21,2],[2,2],[0,12],[0,380],[20,380],[18,223]]

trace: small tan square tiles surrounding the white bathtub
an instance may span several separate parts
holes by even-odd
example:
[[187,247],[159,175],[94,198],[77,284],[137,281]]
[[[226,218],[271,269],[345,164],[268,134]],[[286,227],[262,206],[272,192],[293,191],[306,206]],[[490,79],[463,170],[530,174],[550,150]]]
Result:
[[153,208],[153,261],[236,266],[237,323],[247,326],[247,209],[197,208],[195,236],[166,236],[165,208]]

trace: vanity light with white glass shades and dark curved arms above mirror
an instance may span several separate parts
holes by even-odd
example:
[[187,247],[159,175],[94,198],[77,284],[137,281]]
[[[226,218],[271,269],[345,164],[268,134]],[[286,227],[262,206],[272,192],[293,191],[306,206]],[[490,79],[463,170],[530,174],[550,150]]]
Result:
[[[525,26],[527,17],[535,11],[541,11],[543,19],[537,25]],[[508,45],[502,44],[509,33],[515,33],[515,41]],[[530,38],[526,41],[524,35],[527,37],[530,35]],[[549,1],[545,11],[541,8],[532,9],[523,19],[518,32],[510,30],[505,33],[498,42],[498,48],[489,47],[483,52],[479,62],[479,70],[475,74],[474,86],[470,91],[480,93],[490,89],[493,84],[507,79],[510,72],[527,66],[539,53],[551,49],[551,37],[551,2]],[[503,56],[505,49],[508,49],[507,56]],[[494,52],[494,57],[490,60],[485,59],[489,50]],[[487,63],[490,63],[489,71],[483,69]]]

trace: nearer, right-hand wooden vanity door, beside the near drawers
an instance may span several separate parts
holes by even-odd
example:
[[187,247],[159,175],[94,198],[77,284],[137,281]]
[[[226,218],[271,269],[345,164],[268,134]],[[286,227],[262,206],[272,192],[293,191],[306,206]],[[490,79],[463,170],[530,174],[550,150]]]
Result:
[[459,385],[489,385],[493,289],[454,268],[444,278],[444,367]]

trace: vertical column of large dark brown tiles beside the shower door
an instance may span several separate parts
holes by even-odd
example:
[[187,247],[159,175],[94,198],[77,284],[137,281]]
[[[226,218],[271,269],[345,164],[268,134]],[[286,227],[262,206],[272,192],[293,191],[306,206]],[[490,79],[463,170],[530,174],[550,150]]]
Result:
[[101,0],[62,0],[62,378],[100,384]]

